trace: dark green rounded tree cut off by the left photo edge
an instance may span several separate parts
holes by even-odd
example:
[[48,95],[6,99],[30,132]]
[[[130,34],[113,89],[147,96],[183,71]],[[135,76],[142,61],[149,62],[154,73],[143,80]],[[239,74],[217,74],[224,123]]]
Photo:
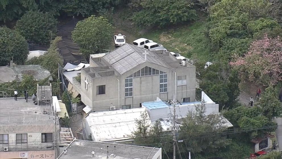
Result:
[[7,27],[0,27],[0,66],[12,60],[22,64],[28,56],[28,44],[24,37]]

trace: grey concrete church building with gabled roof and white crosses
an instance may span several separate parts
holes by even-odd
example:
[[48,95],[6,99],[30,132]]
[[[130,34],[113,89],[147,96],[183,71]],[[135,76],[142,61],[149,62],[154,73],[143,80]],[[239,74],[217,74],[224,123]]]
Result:
[[81,101],[92,111],[141,107],[142,102],[176,98],[195,100],[195,66],[169,52],[148,51],[125,44],[109,54],[94,54],[81,69],[80,82],[67,77]]

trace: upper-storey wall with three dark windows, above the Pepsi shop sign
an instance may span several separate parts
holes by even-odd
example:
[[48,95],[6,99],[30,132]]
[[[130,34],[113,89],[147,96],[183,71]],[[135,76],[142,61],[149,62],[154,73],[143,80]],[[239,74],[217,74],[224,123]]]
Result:
[[[52,132],[54,138],[54,124],[42,125],[1,125],[0,134],[9,134],[9,144],[0,144],[0,150],[9,148],[9,151],[38,150],[53,143],[41,143],[41,133]],[[16,144],[16,134],[27,133],[27,143]],[[34,148],[37,147],[37,148]],[[54,149],[45,148],[45,149]]]

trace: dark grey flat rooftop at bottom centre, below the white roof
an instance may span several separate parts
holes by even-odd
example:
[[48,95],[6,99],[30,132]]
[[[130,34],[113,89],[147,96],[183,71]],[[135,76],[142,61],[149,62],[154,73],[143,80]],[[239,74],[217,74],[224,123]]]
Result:
[[[84,158],[107,158],[107,146],[109,146],[109,158],[111,154],[115,159],[152,159],[160,148],[133,146],[125,144],[112,144],[107,142],[94,142],[85,140],[74,140],[67,148],[67,152],[62,153],[58,159],[84,159]],[[115,146],[115,147],[114,147]],[[94,157],[91,152],[94,151]]]

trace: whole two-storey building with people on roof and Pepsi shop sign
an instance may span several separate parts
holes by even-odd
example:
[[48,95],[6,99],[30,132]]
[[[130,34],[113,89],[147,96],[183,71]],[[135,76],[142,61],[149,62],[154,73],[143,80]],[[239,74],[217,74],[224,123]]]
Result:
[[52,108],[0,99],[0,159],[55,159]]

